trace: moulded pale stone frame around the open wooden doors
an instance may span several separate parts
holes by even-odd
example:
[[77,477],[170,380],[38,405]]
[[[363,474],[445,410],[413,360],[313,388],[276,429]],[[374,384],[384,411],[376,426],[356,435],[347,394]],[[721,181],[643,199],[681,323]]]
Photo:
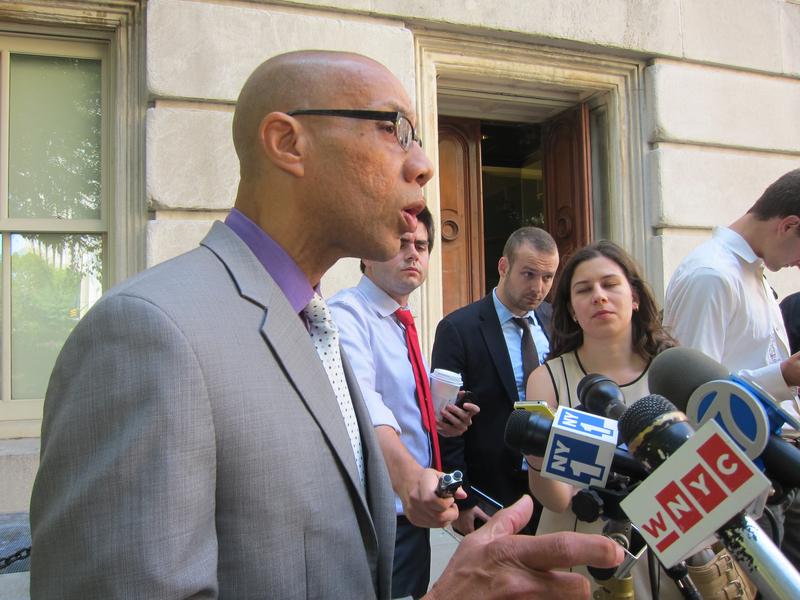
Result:
[[[608,238],[621,244],[658,277],[658,261],[652,265],[647,261],[648,235],[652,227],[647,204],[643,201],[644,140],[640,123],[644,105],[644,63],[604,55],[598,49],[585,52],[530,41],[430,30],[415,32],[414,43],[418,130],[426,151],[440,168],[424,193],[428,206],[435,215],[442,217],[440,230],[443,234],[452,235],[454,230],[453,224],[447,223],[445,201],[440,193],[447,169],[455,164],[472,165],[471,170],[459,174],[457,189],[478,186],[481,171],[476,170],[479,162],[441,160],[442,115],[477,122],[541,124],[564,111],[585,106],[581,110],[588,109],[589,126],[583,131],[591,129],[588,136],[591,153],[584,154],[586,160],[591,160],[590,167],[584,168],[585,173],[591,174],[592,220],[587,227],[592,226],[595,238]],[[478,148],[477,144],[465,145],[464,138],[458,136],[453,138],[451,146],[455,156]],[[547,154],[545,151],[545,158]],[[553,180],[547,177],[546,166],[543,178],[545,185],[548,179]],[[571,180],[569,175],[564,175],[563,179]],[[482,251],[483,222],[477,218],[482,213],[475,213],[474,203],[466,207],[474,216],[462,212],[454,214],[457,218],[453,220],[458,230],[467,235],[464,242],[469,249],[467,256],[473,258],[471,253]],[[555,218],[556,225],[559,220],[564,224],[565,215],[560,215],[558,210],[549,214],[548,217],[546,211],[546,218]],[[558,227],[548,226],[548,230],[557,231]],[[442,246],[445,242],[442,241]],[[426,352],[430,351],[441,317],[454,307],[479,298],[485,290],[486,268],[481,266],[484,263],[477,260],[469,265],[461,263],[458,270],[462,279],[474,287],[466,288],[470,290],[468,295],[454,302],[453,289],[459,288],[445,286],[444,261],[442,252],[431,255],[428,280],[420,289],[423,316],[420,341]],[[476,278],[478,283],[475,283]]]

